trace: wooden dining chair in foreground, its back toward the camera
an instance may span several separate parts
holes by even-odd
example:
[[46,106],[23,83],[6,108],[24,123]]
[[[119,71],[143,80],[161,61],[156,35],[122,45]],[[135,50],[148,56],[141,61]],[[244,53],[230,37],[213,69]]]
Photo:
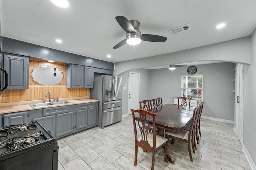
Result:
[[[165,137],[161,137],[156,135],[156,122],[155,117],[156,113],[151,113],[150,111],[142,110],[142,109],[131,109],[132,111],[132,120],[134,127],[134,135],[135,135],[135,158],[134,158],[134,166],[137,165],[137,156],[138,156],[138,147],[141,147],[143,150],[147,150],[152,152],[152,164],[151,170],[154,170],[155,157],[156,152],[161,148],[164,149],[165,158],[168,154],[168,139]],[[138,113],[138,114],[135,114]],[[152,127],[147,121],[147,116],[152,117]],[[137,127],[140,131],[140,137],[137,136]],[[152,131],[153,133],[150,133]],[[166,160],[165,160],[166,161]],[[167,160],[168,162],[168,160]]]

